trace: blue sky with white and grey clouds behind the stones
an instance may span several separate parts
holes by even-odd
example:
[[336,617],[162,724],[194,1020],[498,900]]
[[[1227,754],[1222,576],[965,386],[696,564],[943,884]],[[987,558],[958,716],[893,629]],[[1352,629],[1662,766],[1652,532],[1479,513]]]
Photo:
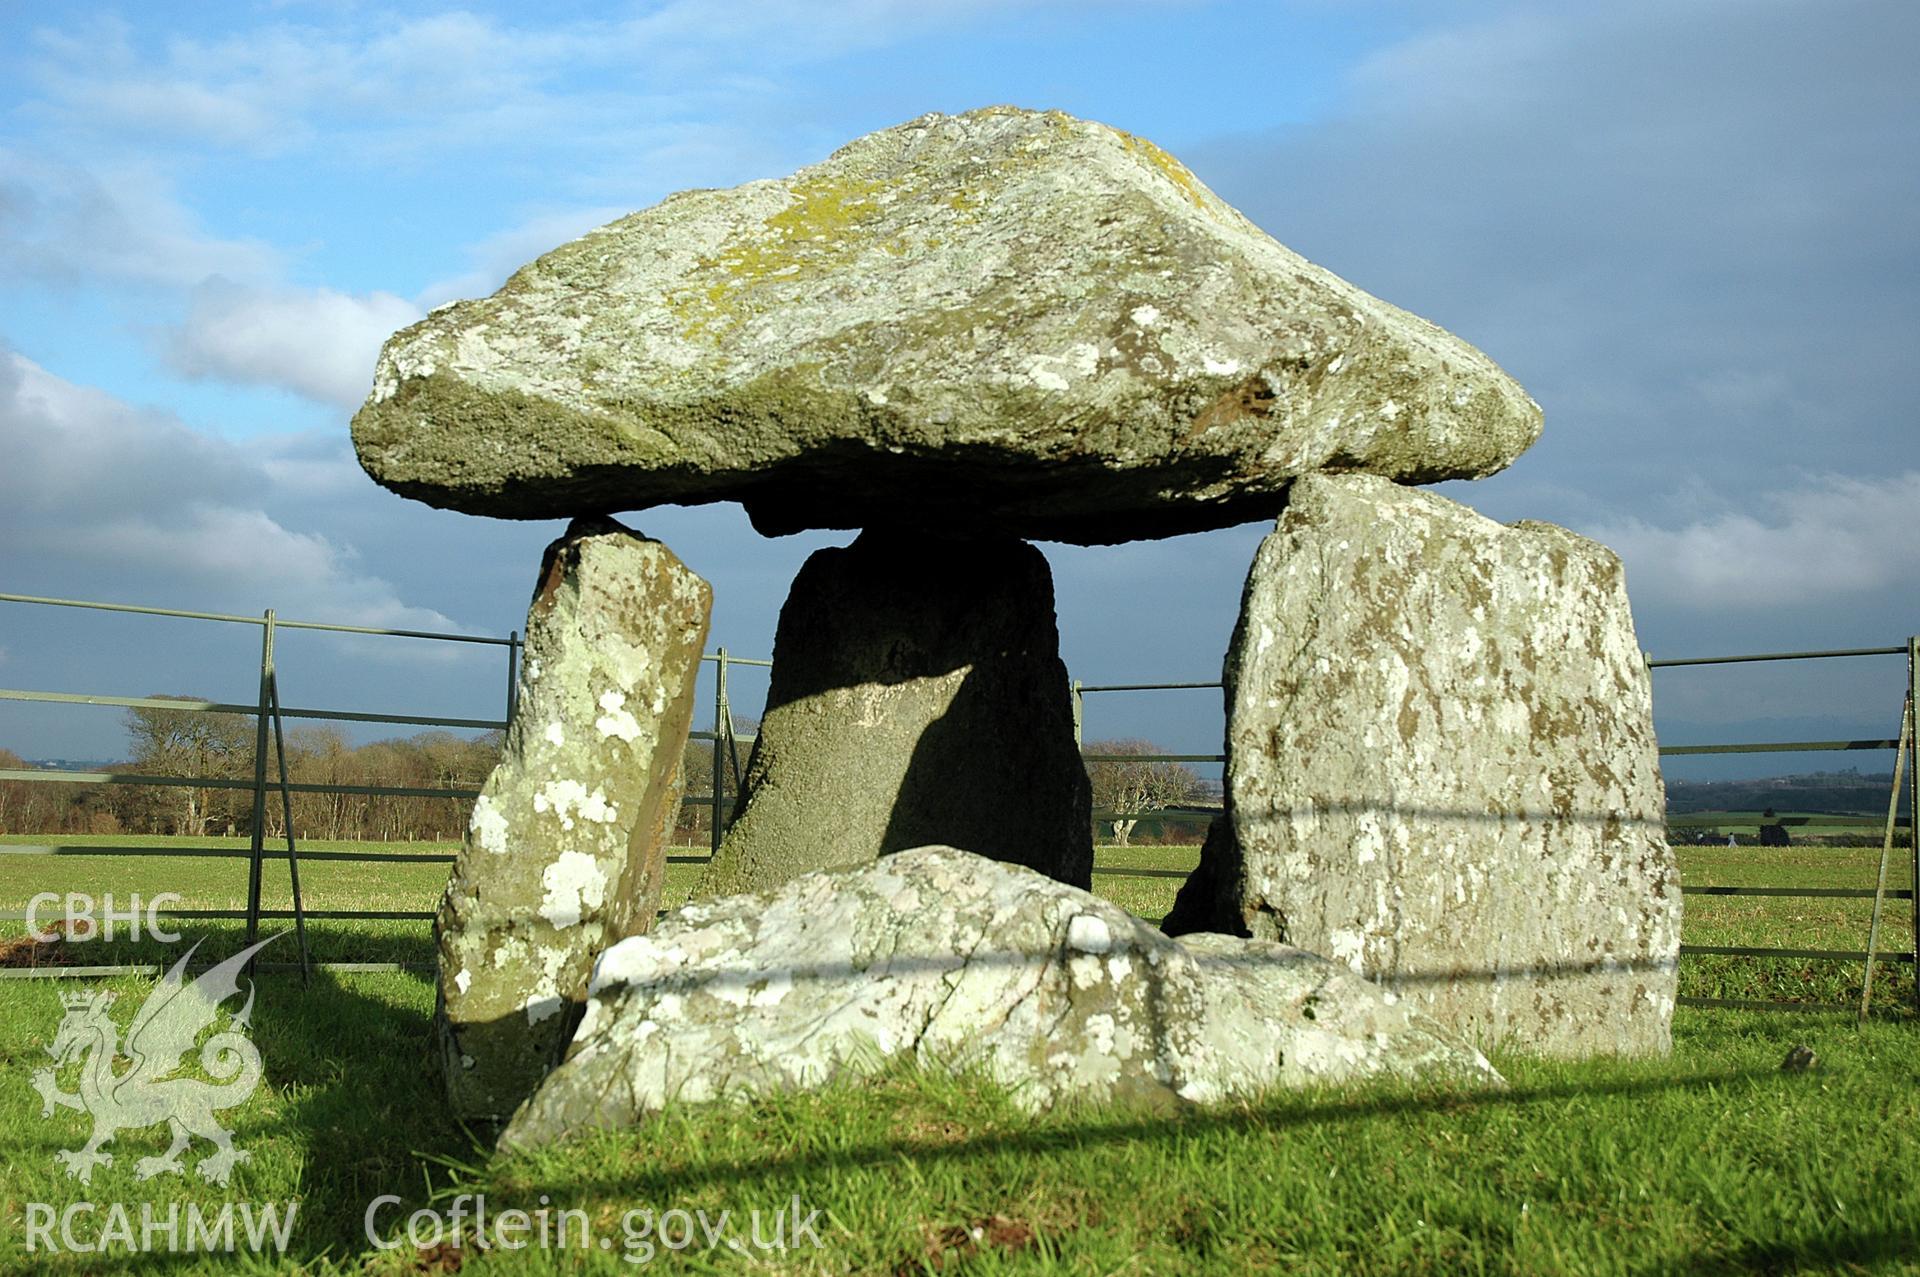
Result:
[[[674,190],[1014,102],[1154,138],[1501,361],[1546,436],[1448,494],[1615,545],[1657,655],[1889,643],[1920,630],[1916,36],[1912,6],[1849,0],[4,6],[0,590],[518,626],[551,524],[428,511],[353,465],[380,340]],[[630,522],[755,655],[837,540],[768,542],[733,507]],[[1260,536],[1046,547],[1073,672],[1215,674]],[[0,686],[244,699],[250,641],[0,605]],[[480,714],[495,674],[286,655],[296,703]],[[1661,726],[1878,735],[1899,674],[1663,674]],[[1112,699],[1089,730],[1212,749],[1219,707]],[[119,732],[10,707],[0,745],[100,757]]]

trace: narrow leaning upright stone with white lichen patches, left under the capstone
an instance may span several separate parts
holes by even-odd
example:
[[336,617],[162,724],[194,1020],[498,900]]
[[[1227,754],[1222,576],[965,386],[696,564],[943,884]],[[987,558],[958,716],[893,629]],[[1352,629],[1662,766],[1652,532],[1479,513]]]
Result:
[[453,1112],[499,1121],[572,1037],[593,958],[653,926],[712,591],[605,518],[547,547],[520,699],[440,903]]

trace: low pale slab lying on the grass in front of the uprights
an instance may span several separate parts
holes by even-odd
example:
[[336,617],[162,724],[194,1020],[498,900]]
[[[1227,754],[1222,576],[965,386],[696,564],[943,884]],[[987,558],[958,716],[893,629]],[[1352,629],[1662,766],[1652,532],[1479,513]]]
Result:
[[1500,1083],[1405,1000],[1298,949],[1175,943],[1087,891],[924,847],[695,901],[609,949],[538,1144],[668,1100],[812,1089],[889,1058],[981,1068],[1031,1108],[1150,1106],[1382,1075]]

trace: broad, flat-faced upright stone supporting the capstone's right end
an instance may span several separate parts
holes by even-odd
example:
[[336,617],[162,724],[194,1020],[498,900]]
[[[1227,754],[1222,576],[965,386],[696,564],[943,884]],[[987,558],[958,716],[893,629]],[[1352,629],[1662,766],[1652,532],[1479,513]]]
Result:
[[1309,476],[1227,653],[1231,835],[1173,910],[1325,952],[1475,1041],[1668,1047],[1680,878],[1619,559]]

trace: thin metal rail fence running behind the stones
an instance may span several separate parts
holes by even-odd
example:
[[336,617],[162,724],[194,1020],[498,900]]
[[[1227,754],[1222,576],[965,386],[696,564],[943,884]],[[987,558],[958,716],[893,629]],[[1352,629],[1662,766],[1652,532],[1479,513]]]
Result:
[[[305,910],[300,899],[300,879],[298,866],[301,858],[307,860],[357,860],[357,862],[411,862],[411,864],[451,864],[453,856],[447,853],[374,853],[374,851],[300,851],[294,837],[294,822],[290,807],[284,810],[286,826],[286,851],[269,851],[265,845],[265,810],[271,791],[280,793],[282,803],[290,803],[294,793],[353,793],[353,795],[388,795],[388,797],[428,797],[428,799],[472,799],[478,789],[463,787],[409,787],[409,785],[334,785],[334,783],[311,783],[294,782],[286,774],[286,751],[280,739],[280,724],[286,718],[303,720],[332,720],[332,722],[378,722],[378,724],[405,724],[405,726],[438,726],[438,728],[468,728],[468,730],[503,730],[507,718],[513,716],[515,699],[518,693],[518,659],[522,639],[518,632],[511,632],[505,638],[482,636],[482,634],[436,634],[424,630],[382,630],[371,626],[344,626],[317,620],[284,620],[276,618],[269,609],[261,616],[234,616],[223,613],[194,613],[165,607],[134,607],[125,603],[94,603],[81,599],[50,599],[40,595],[23,593],[0,593],[0,603],[25,603],[40,607],[79,607],[109,613],[134,613],[146,616],[169,616],[184,620],[204,620],[204,622],[223,622],[223,624],[248,624],[261,628],[261,661],[259,661],[259,699],[253,705],[228,705],[217,701],[173,701],[173,699],[152,699],[152,697],[115,697],[115,695],[88,695],[88,693],[58,693],[58,691],[29,691],[17,687],[0,687],[0,701],[38,701],[38,703],[58,703],[58,705],[109,705],[121,709],[169,709],[169,711],[188,711],[188,712],[227,712],[227,714],[252,714],[255,718],[255,751],[253,751],[253,778],[252,780],[221,780],[221,778],[180,778],[180,776],[150,776],[144,772],[56,772],[46,768],[0,768],[0,780],[19,780],[35,783],[111,783],[111,785],[192,785],[202,789],[250,789],[253,795],[253,822],[252,822],[252,845],[246,851],[234,847],[207,847],[207,845],[169,845],[169,847],[131,847],[131,845],[38,845],[38,847],[0,847],[0,855],[90,855],[90,856],[246,856],[248,858],[248,908],[246,910],[211,910],[211,908],[177,908],[165,910],[167,918],[244,918],[248,924],[248,939],[252,941],[257,933],[261,920],[282,920],[290,918],[296,928],[307,918],[326,918],[326,920],[415,920],[426,922],[434,914],[428,910]],[[372,712],[353,712],[353,711],[324,711],[324,709],[288,709],[278,703],[278,686],[273,657],[273,639],[276,630],[324,630],[334,634],[363,634],[363,636],[382,636],[382,638],[407,638],[407,639],[428,639],[442,643],[486,643],[505,649],[505,711],[507,718],[438,718],[424,714],[372,714]],[[1718,743],[1718,745],[1663,745],[1663,757],[1682,757],[1682,755],[1757,755],[1757,753],[1824,753],[1824,751],[1895,751],[1895,772],[1893,772],[1893,793],[1887,803],[1887,820],[1882,837],[1880,855],[1880,876],[1874,889],[1864,887],[1736,887],[1736,885],[1684,885],[1686,895],[1699,897],[1799,897],[1799,899],[1872,899],[1874,912],[1868,931],[1868,947],[1864,951],[1841,951],[1841,949],[1763,949],[1763,947],[1734,947],[1734,945],[1682,945],[1682,954],[1716,954],[1716,956],[1751,956],[1751,958],[1799,958],[1799,960],[1818,960],[1818,962],[1864,962],[1866,976],[1862,981],[1862,997],[1859,1014],[1864,1016],[1874,983],[1874,968],[1880,962],[1905,962],[1914,964],[1914,949],[1903,951],[1882,951],[1880,935],[1884,910],[1887,901],[1910,901],[1912,903],[1912,939],[1920,947],[1920,837],[1914,837],[1916,816],[1920,816],[1920,739],[1914,735],[1914,701],[1916,691],[1920,691],[1920,638],[1908,638],[1903,645],[1893,647],[1855,647],[1855,649],[1832,649],[1832,651],[1789,651],[1789,653],[1755,653],[1738,657],[1686,657],[1686,659],[1649,659],[1649,668],[1676,668],[1676,666],[1707,666],[1707,664],[1747,664],[1761,661],[1834,661],[1851,657],[1907,657],[1907,691],[1901,709],[1901,732],[1897,739],[1849,739],[1849,741],[1764,741],[1764,743]],[[703,739],[712,743],[712,787],[705,795],[687,795],[684,801],[689,805],[710,808],[710,845],[712,851],[720,849],[720,839],[726,831],[728,818],[732,814],[732,803],[728,797],[728,780],[732,780],[732,793],[739,793],[741,785],[741,760],[739,745],[751,743],[751,734],[735,732],[733,711],[728,691],[728,672],[732,666],[770,666],[770,661],[733,657],[726,647],[714,653],[703,655],[701,661],[714,664],[714,707],[712,707],[712,728],[705,732],[691,732],[691,739]],[[1221,682],[1181,682],[1181,684],[1083,684],[1079,680],[1071,682],[1071,703],[1073,703],[1073,735],[1079,741],[1083,734],[1085,720],[1085,697],[1098,693],[1119,693],[1119,691],[1196,691],[1212,689],[1219,691]],[[269,776],[267,772],[267,735],[269,728],[275,735],[276,757],[278,757],[278,776]],[[1171,753],[1146,753],[1146,755],[1087,755],[1089,762],[1225,762],[1225,755],[1171,755]],[[1893,855],[1893,835],[1899,826],[1897,810],[1901,785],[1907,785],[1908,793],[1908,849],[1912,858],[1912,883],[1914,887],[1889,889],[1887,887],[1887,868]],[[668,856],[676,864],[705,864],[708,856]],[[267,860],[286,860],[292,876],[294,887],[294,908],[292,910],[267,910],[261,908],[261,868]],[[1102,868],[1094,866],[1096,876],[1106,878],[1185,878],[1179,870],[1142,870],[1142,868]],[[0,920],[25,920],[25,910],[0,910]],[[263,970],[273,970],[275,964],[261,964]],[[296,964],[300,970],[307,970],[305,960],[305,939],[301,935],[301,962]],[[328,962],[319,964],[328,970],[396,970],[403,964],[367,964],[367,962]],[[100,976],[100,974],[127,974],[127,972],[148,972],[157,968],[38,968],[29,972],[10,970],[0,972],[4,976],[15,974],[48,974],[48,976]],[[1916,987],[1916,997],[1920,997],[1920,987]],[[1684,1004],[1692,1006],[1716,1006],[1716,1008],[1740,1008],[1740,1010],[1855,1010],[1853,1006],[1837,1004],[1814,1004],[1814,1002],[1772,1002],[1772,1000],[1743,1000],[1743,999],[1680,999]]]

